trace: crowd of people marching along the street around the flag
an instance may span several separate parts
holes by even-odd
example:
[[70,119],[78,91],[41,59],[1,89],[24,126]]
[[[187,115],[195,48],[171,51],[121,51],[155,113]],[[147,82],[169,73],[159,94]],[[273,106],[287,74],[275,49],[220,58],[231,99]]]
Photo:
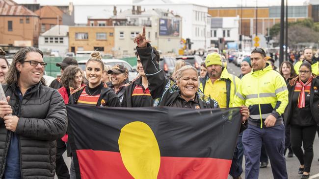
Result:
[[[295,174],[310,177],[313,143],[319,135],[319,67],[311,48],[303,58],[274,60],[263,48],[254,48],[241,62],[238,77],[229,73],[221,55],[210,53],[200,73],[183,60],[176,62],[171,77],[159,66],[160,53],[143,33],[138,34],[136,68],[129,81],[122,65],[106,66],[93,52],[85,70],[70,57],[56,66],[61,78],[48,87],[43,78],[47,64],[35,47],[24,47],[9,66],[0,50],[0,83],[6,98],[0,100],[0,179],[75,179],[62,154],[72,157],[67,134],[67,104],[96,107],[177,107],[214,109],[239,107],[240,133],[229,174],[258,179],[268,160],[274,179],[288,179],[285,155],[299,160]],[[132,43],[133,44],[133,43]],[[194,119],[196,120],[196,119]],[[303,146],[303,149],[301,148]],[[296,164],[297,165],[297,164]]]

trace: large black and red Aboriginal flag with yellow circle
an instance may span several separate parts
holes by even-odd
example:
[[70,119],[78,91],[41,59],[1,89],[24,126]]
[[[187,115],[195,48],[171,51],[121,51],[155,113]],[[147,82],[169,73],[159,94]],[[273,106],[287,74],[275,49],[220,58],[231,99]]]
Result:
[[239,108],[67,106],[78,179],[227,179]]

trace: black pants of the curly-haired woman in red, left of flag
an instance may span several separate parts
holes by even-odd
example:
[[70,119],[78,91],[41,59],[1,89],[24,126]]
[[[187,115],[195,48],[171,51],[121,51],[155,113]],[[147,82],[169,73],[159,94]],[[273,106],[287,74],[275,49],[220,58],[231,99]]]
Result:
[[57,175],[58,179],[69,179],[69,169],[66,166],[64,159],[63,159],[63,153],[66,150],[66,145],[65,143],[61,140],[58,139],[56,140],[56,168],[55,168],[55,173]]

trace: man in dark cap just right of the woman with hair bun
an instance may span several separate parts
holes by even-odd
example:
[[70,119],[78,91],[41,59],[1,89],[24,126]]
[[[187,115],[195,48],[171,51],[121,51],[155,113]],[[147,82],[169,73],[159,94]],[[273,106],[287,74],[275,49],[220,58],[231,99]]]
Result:
[[115,65],[112,69],[107,71],[111,75],[112,85],[109,86],[120,100],[123,101],[125,93],[125,84],[129,83],[129,70],[122,65]]

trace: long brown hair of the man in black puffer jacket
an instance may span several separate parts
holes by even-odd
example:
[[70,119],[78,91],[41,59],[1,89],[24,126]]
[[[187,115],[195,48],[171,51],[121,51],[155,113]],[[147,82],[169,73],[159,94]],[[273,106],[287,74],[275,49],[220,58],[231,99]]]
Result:
[[[29,52],[36,52],[39,53],[43,58],[43,53],[39,48],[28,46],[21,48],[16,54],[14,54],[12,63],[9,67],[8,73],[5,75],[5,81],[8,85],[14,84],[18,82],[18,79],[20,78],[20,72],[16,67],[16,64],[22,63],[26,60],[27,53]],[[43,85],[46,85],[45,79],[42,77],[40,81]]]

